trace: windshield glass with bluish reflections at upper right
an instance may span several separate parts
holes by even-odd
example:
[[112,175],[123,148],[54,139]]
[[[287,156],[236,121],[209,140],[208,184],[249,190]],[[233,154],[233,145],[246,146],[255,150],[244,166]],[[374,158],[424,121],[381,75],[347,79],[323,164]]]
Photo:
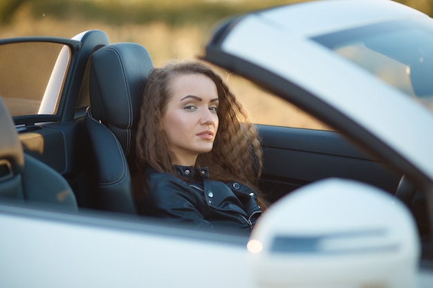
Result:
[[398,21],[316,37],[433,111],[433,27]]

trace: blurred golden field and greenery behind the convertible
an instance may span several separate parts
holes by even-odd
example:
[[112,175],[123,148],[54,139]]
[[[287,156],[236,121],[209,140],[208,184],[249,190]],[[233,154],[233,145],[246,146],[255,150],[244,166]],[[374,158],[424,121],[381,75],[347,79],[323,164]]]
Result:
[[[396,1],[433,15],[433,0]],[[0,37],[71,38],[98,29],[112,43],[131,41],[145,46],[154,65],[162,66],[168,59],[196,59],[223,19],[299,2],[302,0],[1,0]],[[264,91],[239,77],[225,76],[252,121],[329,129],[272,95],[264,97]]]

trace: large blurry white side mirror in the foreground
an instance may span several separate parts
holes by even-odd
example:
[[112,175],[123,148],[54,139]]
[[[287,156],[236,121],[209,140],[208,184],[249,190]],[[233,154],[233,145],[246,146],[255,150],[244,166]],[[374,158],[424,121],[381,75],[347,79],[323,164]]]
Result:
[[260,287],[414,287],[420,257],[416,224],[402,202],[336,178],[270,206],[248,250]]

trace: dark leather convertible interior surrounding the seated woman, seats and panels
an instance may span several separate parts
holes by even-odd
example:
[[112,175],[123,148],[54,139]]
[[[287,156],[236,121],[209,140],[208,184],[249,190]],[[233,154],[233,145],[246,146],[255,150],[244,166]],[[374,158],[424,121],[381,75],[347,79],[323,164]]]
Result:
[[[153,68],[151,56],[143,46],[111,44],[104,32],[91,30],[82,37],[80,50],[71,50],[68,65],[54,115],[11,117],[10,107],[0,103],[1,196],[60,204],[65,210],[136,214],[131,188],[134,124]],[[338,132],[257,128],[264,151],[260,189],[270,203],[327,177],[358,180],[393,195],[407,187],[400,194],[407,195],[405,189],[414,194],[406,180],[399,185],[402,175]],[[416,205],[425,206],[423,198],[410,198],[409,205],[418,201]],[[417,222],[427,241],[427,222]]]

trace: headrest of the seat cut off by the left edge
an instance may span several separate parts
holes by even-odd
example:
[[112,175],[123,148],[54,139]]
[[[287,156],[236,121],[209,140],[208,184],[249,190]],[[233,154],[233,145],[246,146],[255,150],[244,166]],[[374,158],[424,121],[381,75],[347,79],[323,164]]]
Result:
[[21,173],[24,169],[24,152],[15,124],[3,99],[0,97],[0,181]]

